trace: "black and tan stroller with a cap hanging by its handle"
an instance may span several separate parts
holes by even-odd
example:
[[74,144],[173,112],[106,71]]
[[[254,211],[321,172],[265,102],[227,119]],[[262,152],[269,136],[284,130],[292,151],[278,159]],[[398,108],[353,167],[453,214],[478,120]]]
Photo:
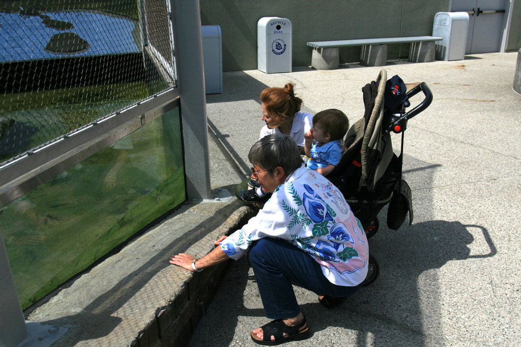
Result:
[[[369,238],[378,231],[377,215],[387,204],[390,229],[398,230],[407,212],[409,225],[413,222],[411,188],[402,179],[403,137],[407,121],[429,107],[432,93],[424,82],[406,92],[398,75],[387,80],[386,70],[381,70],[376,81],[366,84],[362,92],[364,117],[349,129],[342,158],[327,178],[340,189]],[[423,92],[424,100],[406,112],[409,99],[419,92]],[[391,132],[402,134],[398,156],[392,148]],[[369,255],[364,285],[371,284],[378,273],[378,262]]]

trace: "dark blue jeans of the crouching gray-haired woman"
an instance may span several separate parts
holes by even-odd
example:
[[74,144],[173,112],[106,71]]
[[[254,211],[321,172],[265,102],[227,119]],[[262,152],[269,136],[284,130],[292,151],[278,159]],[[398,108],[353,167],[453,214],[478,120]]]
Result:
[[311,255],[289,242],[275,238],[268,237],[254,242],[249,251],[249,260],[266,317],[270,319],[299,315],[300,309],[292,284],[332,297],[349,297],[362,288],[362,284],[356,287],[332,284]]

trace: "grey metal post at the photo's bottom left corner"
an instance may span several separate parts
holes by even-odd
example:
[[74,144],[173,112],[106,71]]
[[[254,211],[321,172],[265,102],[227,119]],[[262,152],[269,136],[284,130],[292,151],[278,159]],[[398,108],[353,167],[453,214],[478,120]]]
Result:
[[0,347],[15,347],[28,337],[0,229]]

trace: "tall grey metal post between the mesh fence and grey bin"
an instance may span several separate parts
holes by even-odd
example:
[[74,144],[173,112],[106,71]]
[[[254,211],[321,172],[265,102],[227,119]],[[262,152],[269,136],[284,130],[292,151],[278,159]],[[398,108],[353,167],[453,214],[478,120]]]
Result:
[[210,199],[208,123],[199,1],[170,0],[181,94],[184,169],[189,199]]

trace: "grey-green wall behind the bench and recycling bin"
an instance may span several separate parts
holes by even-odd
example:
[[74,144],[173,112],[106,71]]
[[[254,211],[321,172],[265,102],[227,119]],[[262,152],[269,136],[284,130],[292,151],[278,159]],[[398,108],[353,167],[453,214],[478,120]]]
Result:
[[[449,0],[200,0],[202,25],[222,32],[223,71],[257,69],[257,21],[288,18],[293,27],[293,66],[311,65],[308,41],[431,35],[436,12]],[[389,45],[388,58],[407,56],[408,44]],[[340,62],[355,62],[359,47],[340,49]]]

